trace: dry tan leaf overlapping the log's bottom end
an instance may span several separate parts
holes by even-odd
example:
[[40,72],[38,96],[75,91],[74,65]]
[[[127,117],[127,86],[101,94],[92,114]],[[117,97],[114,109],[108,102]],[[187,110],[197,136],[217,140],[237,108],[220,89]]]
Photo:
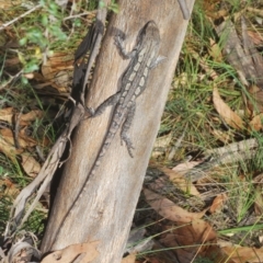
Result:
[[91,262],[99,255],[96,251],[99,242],[100,241],[92,241],[89,243],[71,244],[62,250],[48,254],[42,263],[70,263],[82,253],[85,253],[85,256],[80,263]]

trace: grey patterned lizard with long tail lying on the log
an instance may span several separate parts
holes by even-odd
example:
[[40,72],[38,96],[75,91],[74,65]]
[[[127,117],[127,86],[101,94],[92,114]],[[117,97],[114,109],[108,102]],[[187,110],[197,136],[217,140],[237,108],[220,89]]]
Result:
[[[150,70],[164,59],[164,57],[158,56],[160,48],[160,33],[155,21],[149,21],[145,24],[137,36],[137,44],[132,52],[127,53],[125,50],[124,43],[119,36],[115,37],[115,45],[119,49],[121,55],[125,59],[130,58],[130,61],[122,76],[119,91],[106,99],[95,111],[91,108],[91,117],[96,117],[101,115],[107,106],[115,105],[101,149],[99,150],[95,161],[88,173],[80,192],[77,194],[77,197],[64,217],[65,219],[59,229],[62,228],[66,218],[72,215],[73,207],[78,207],[78,203],[87,191],[90,178],[95,174],[98,167],[105,156],[105,152],[113,141],[117,130],[121,128],[122,123],[121,139],[126,144],[129,156],[132,158],[134,157],[132,152],[134,146],[127,136],[127,132],[135,115],[135,101],[146,89]],[[58,230],[58,233],[59,231],[60,230]]]

